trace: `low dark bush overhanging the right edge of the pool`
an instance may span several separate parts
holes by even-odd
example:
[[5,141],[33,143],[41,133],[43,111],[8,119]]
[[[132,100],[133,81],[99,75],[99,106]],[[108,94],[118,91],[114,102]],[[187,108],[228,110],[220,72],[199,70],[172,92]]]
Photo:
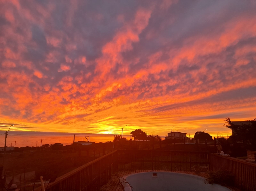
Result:
[[205,184],[220,184],[221,186],[234,186],[235,176],[226,170],[221,168],[217,171],[209,171],[208,178],[204,180]]

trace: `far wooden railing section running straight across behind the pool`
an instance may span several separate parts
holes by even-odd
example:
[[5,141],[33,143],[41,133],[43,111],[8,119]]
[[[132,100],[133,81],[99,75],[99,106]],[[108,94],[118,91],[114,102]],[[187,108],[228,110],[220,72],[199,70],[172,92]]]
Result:
[[118,168],[127,170],[209,170],[207,151],[118,150]]

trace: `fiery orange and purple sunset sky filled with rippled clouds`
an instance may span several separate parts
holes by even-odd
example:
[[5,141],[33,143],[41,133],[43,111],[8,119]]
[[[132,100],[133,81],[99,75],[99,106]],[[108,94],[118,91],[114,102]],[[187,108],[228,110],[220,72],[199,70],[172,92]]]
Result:
[[0,0],[0,130],[154,135],[256,117],[256,1]]

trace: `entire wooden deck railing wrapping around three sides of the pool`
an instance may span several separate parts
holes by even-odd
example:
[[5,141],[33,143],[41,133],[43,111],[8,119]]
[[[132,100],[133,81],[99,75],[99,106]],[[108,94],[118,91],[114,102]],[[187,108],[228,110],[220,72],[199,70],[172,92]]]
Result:
[[[236,186],[256,191],[256,165],[221,157],[205,151],[116,150],[57,178],[46,191],[96,191],[117,170],[191,171],[193,166],[206,170],[219,168],[235,174]],[[36,189],[40,191],[41,188]]]

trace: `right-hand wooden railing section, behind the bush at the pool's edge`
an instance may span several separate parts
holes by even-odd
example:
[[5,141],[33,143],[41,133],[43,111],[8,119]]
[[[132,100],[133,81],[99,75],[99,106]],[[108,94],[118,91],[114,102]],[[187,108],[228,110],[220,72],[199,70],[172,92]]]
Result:
[[235,175],[236,187],[241,190],[256,191],[256,164],[218,154],[209,154],[209,162],[213,171],[220,168],[231,171]]

